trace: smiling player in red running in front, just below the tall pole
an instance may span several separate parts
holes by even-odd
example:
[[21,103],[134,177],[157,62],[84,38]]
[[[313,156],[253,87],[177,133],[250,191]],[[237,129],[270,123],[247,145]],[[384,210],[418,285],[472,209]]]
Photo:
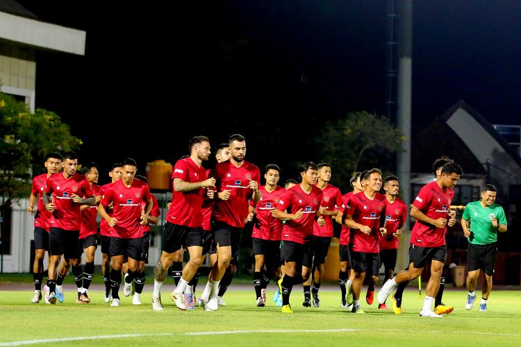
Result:
[[378,233],[385,236],[385,196],[379,194],[381,188],[381,171],[370,169],[365,171],[364,191],[353,194],[342,214],[342,225],[351,228],[350,248],[354,280],[352,283],[352,312],[363,314],[360,305],[360,293],[366,273],[369,272],[376,282],[380,270],[380,254]]

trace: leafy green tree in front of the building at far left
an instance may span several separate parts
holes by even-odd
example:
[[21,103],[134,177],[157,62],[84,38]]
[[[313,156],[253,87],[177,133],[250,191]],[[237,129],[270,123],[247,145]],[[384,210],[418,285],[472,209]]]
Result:
[[31,178],[44,172],[47,153],[76,150],[81,139],[53,112],[34,113],[22,101],[0,93],[0,196],[2,205],[28,197]]

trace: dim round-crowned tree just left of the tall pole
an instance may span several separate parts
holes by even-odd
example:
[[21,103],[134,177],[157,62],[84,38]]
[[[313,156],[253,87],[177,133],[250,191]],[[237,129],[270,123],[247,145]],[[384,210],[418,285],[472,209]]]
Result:
[[384,117],[369,112],[350,112],[347,117],[329,121],[316,137],[322,161],[329,162],[337,185],[349,190],[349,178],[356,171],[392,168],[389,160],[404,141]]

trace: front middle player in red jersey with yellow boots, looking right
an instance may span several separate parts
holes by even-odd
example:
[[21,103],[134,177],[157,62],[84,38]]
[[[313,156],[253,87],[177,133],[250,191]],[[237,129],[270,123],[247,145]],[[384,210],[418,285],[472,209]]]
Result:
[[[293,313],[290,305],[290,294],[293,285],[303,283],[304,259],[311,266],[311,236],[313,223],[325,224],[319,209],[322,202],[322,190],[315,187],[318,168],[313,162],[306,162],[300,167],[301,183],[291,187],[284,193],[276,205],[274,217],[286,221],[282,229],[281,261],[285,265],[285,273],[279,280],[279,291],[282,293],[283,313]],[[288,212],[284,212],[288,210]],[[305,276],[305,275],[304,275]],[[308,274],[309,276],[309,274]]]

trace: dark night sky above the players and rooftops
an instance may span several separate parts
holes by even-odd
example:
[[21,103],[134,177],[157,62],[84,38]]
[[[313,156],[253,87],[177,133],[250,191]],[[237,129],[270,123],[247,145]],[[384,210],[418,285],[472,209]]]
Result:
[[[38,52],[36,106],[83,139],[80,162],[97,162],[101,183],[127,157],[173,164],[194,135],[215,146],[242,133],[259,167],[320,162],[324,121],[385,110],[386,1],[113,2],[19,1],[87,32],[85,56]],[[413,135],[460,99],[521,124],[521,1],[413,11]]]

